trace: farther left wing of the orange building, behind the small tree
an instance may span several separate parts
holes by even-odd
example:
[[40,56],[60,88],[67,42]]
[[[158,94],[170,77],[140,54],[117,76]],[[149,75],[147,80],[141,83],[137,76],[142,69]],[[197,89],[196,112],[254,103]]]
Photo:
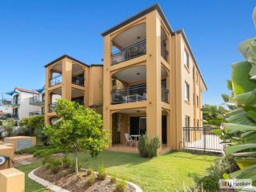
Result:
[[87,65],[63,55],[46,66],[45,122],[54,122],[56,100],[66,98],[86,107],[102,106],[102,65]]

